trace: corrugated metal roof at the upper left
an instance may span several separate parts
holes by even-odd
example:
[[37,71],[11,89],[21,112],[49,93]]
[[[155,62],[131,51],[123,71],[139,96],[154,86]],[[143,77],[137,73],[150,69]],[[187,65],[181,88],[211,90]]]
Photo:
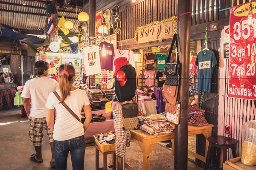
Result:
[[[23,6],[23,3],[26,3],[26,5]],[[75,13],[76,8],[69,5],[58,10],[58,16],[64,16],[66,20],[73,22],[74,28],[70,29],[70,32],[77,32],[79,21],[70,18],[77,18],[77,14],[79,14],[81,8],[77,8],[77,14]],[[22,12],[22,14],[15,11]],[[70,11],[73,13],[70,13]],[[46,4],[44,3],[27,0],[0,0],[0,23],[3,25],[20,29],[44,30],[47,16],[42,15],[46,15]]]

